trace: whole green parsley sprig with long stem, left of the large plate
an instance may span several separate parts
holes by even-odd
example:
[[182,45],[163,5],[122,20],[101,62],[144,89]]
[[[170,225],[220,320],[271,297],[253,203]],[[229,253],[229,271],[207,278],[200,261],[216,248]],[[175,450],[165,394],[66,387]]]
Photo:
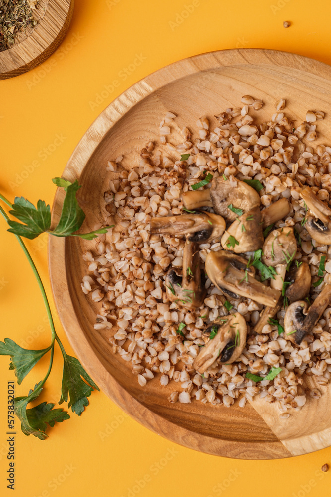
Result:
[[[77,191],[77,184],[75,184],[76,182],[71,184],[69,183],[69,181],[63,180],[62,178],[56,178],[56,181],[54,182],[66,189],[66,199],[62,209],[62,215],[59,224],[56,228],[56,235],[68,236],[68,234],[73,234],[69,233],[70,230],[74,232],[81,226],[85,217],[84,213],[81,213],[82,210],[80,209],[78,204],[76,204],[76,199],[73,198],[75,197],[75,192]],[[33,239],[40,235],[40,233],[44,233],[45,231],[49,232],[50,207],[46,206],[45,202],[40,200],[37,204],[36,209],[29,201],[27,201],[23,197],[18,199],[18,201],[15,202],[14,206],[1,194],[0,199],[10,208],[13,208],[13,211],[11,211],[11,213],[13,213],[17,217],[17,219],[25,223],[25,225],[21,225],[20,223],[11,221],[7,213],[0,205],[0,212],[2,216],[11,226],[11,229],[8,231],[15,234],[18,243],[23,249],[35,274],[40,291],[42,293],[52,332],[50,345],[47,348],[41,350],[24,349],[17,345],[17,343],[15,343],[10,338],[5,338],[4,342],[0,342],[0,355],[7,355],[10,357],[10,369],[13,369],[15,371],[17,382],[20,385],[26,375],[37,364],[37,362],[46,354],[50,354],[49,366],[44,379],[37,383],[33,389],[29,390],[28,395],[16,397],[14,404],[15,414],[21,421],[21,428],[23,433],[26,435],[34,435],[40,440],[45,440],[45,438],[48,437],[48,435],[46,434],[46,429],[48,428],[48,426],[52,428],[54,427],[55,422],[63,422],[66,419],[70,418],[69,414],[67,414],[66,411],[61,408],[54,409],[55,405],[51,403],[48,404],[46,402],[42,402],[38,406],[27,409],[28,404],[36,400],[41,394],[43,386],[51,373],[56,342],[60,347],[64,360],[62,389],[59,404],[67,402],[69,399],[68,407],[71,407],[72,412],[80,415],[84,411],[84,407],[88,405],[87,397],[91,395],[94,389],[99,390],[99,388],[84,370],[78,359],[66,354],[64,346],[55,330],[54,320],[44,285],[41,281],[40,275],[31,258],[30,253],[20,237],[20,234],[22,234],[22,236],[25,236],[26,238]],[[100,230],[100,232],[102,231]],[[96,232],[85,235],[96,235]],[[92,239],[95,238],[95,236],[90,236],[89,238]]]

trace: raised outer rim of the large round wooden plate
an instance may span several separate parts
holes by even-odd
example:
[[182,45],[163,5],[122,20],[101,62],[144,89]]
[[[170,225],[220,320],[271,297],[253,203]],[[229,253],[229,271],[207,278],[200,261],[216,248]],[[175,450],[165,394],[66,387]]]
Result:
[[[231,64],[227,64],[228,59],[231,60]],[[88,159],[114,124],[140,100],[160,87],[176,81],[178,78],[200,71],[212,70],[213,68],[222,65],[251,65],[255,63],[260,66],[276,65],[286,68],[292,67],[291,63],[294,61],[297,66],[298,60],[301,65],[300,71],[312,73],[323,79],[330,79],[331,67],[323,62],[302,55],[268,49],[220,50],[199,54],[169,64],[133,84],[101,112],[79,141],[63,171],[63,175],[72,181],[74,179],[79,179],[80,173]],[[169,71],[170,68],[171,71]],[[130,95],[132,94],[132,91],[135,93],[135,97],[140,97],[138,101],[131,100]],[[110,114],[114,115],[114,111],[117,118],[111,120]],[[64,192],[58,189],[55,194],[53,213],[55,212],[57,214],[61,211],[63,195]],[[229,457],[227,455],[227,452],[229,451],[231,452],[231,457],[238,459],[275,459],[292,457],[290,451],[286,449],[280,440],[273,442],[269,441],[267,447],[265,447],[266,442],[261,441],[238,442],[236,440],[232,442],[230,440],[215,439],[206,435],[200,435],[180,427],[177,424],[175,425],[159,414],[151,412],[139,401],[132,398],[132,396],[106,371],[99,359],[95,356],[93,348],[81,331],[69,295],[66,280],[66,245],[67,242],[65,239],[49,237],[49,271],[56,308],[66,332],[66,336],[77,354],[77,357],[79,357],[84,367],[89,371],[91,376],[108,397],[143,426],[188,448],[224,457]],[[54,261],[56,261],[56,263]],[[66,307],[63,307],[63,301],[66,301]],[[298,438],[302,437],[298,434]],[[331,441],[326,440],[326,438],[327,437],[323,436],[319,437],[316,442],[316,447],[311,451],[329,446]],[[260,450],[262,446],[264,454],[261,456]],[[309,451],[306,450],[302,453],[308,452]]]

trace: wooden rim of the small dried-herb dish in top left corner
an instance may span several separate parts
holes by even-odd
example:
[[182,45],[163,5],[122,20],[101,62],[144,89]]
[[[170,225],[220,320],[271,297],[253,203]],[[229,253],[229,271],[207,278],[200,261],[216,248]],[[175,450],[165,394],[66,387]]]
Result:
[[[57,25],[54,22],[53,14],[56,11],[56,7],[59,8],[59,1],[49,0],[43,18],[33,29],[32,33],[21,43],[0,52],[0,71],[2,71],[0,72],[0,80],[12,78],[26,73],[27,71],[30,71],[30,69],[34,69],[48,59],[48,57],[50,57],[58,48],[68,30],[73,14],[74,0],[70,0],[67,4],[61,4],[61,8],[64,9],[66,14],[64,22],[61,25]],[[50,43],[45,43],[44,39],[39,35],[39,32],[46,29],[49,33],[50,27],[55,31],[56,36],[53,37]],[[31,44],[34,44],[34,47],[38,46],[37,49],[34,48],[33,55],[32,47],[30,48]],[[30,52],[29,56],[23,58],[20,55],[22,49],[25,50],[26,54]]]

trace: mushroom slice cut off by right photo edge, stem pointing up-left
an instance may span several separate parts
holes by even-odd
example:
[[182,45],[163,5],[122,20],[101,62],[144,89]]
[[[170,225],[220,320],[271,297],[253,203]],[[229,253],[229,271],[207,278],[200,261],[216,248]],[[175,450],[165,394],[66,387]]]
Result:
[[319,244],[331,244],[331,209],[320,200],[313,190],[306,186],[300,192],[305,201],[308,213],[306,214],[305,228],[309,235]]

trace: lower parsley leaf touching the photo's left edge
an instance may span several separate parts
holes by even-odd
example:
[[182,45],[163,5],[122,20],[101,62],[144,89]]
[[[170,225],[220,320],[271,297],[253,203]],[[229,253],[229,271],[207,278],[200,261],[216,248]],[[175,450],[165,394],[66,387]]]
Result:
[[43,350],[28,350],[20,347],[10,338],[5,338],[4,342],[0,342],[0,355],[9,355],[11,358],[10,369],[15,370],[17,383],[20,385],[25,376],[37,364],[39,359],[43,357],[51,349],[52,345]]

